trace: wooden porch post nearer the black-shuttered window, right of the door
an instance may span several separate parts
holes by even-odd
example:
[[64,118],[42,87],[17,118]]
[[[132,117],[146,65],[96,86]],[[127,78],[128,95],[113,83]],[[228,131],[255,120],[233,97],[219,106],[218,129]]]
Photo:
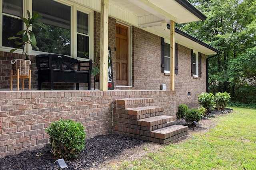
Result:
[[175,22],[170,21],[170,90],[174,90],[174,73],[175,73]]

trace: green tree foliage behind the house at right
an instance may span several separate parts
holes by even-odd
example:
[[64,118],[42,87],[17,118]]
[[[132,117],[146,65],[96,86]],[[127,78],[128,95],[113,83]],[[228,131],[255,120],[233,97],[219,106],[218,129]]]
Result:
[[209,59],[210,92],[256,102],[256,0],[191,0],[205,21],[176,25],[222,51]]

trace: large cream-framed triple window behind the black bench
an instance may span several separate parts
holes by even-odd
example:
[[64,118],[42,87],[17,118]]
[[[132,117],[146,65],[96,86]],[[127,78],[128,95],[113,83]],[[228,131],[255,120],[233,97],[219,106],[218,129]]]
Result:
[[[25,5],[26,4],[26,5]],[[23,7],[30,8],[23,8]],[[93,53],[93,11],[63,0],[2,0],[2,48],[17,47],[8,37],[23,29],[19,16],[39,12],[47,29],[34,28],[39,51],[85,58],[78,51]],[[27,53],[38,52],[27,48]]]

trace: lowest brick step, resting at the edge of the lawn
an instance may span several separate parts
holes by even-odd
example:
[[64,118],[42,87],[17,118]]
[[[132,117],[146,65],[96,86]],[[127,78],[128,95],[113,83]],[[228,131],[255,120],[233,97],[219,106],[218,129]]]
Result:
[[157,142],[161,144],[167,144],[170,142],[177,142],[186,138],[188,131],[187,126],[172,125],[161,129],[156,129],[150,132],[149,141]]

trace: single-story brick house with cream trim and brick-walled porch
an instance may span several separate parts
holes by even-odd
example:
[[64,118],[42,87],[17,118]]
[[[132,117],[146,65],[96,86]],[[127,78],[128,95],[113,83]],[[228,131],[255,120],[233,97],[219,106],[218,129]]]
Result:
[[[184,0],[1,0],[0,6],[0,157],[43,147],[49,142],[44,128],[60,118],[82,122],[88,138],[110,133],[116,110],[112,104],[121,98],[153,98],[154,106],[163,108],[161,114],[175,121],[179,104],[198,106],[194,99],[206,92],[206,58],[221,53],[174,28],[175,22],[206,19]],[[26,10],[40,12],[42,22],[50,25],[53,38],[47,44],[52,47],[37,32],[40,51],[26,48],[32,91],[9,91],[10,60],[19,58],[20,51],[11,54],[13,44],[6,38],[22,29],[18,16],[26,18]],[[107,90],[104,64],[100,86],[96,83],[100,90],[76,91],[74,84],[55,84],[54,91],[45,84],[44,90],[37,90],[36,55],[61,53],[82,61],[86,59],[77,51],[84,51],[93,59],[98,42],[102,62],[107,47],[111,49],[114,90]]]

